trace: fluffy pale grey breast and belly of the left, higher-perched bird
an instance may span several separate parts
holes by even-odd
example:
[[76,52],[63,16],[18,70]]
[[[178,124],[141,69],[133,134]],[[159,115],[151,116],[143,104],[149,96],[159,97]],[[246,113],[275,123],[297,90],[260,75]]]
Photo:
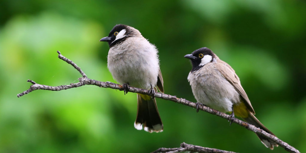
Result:
[[[154,61],[155,60],[155,61]],[[154,57],[126,51],[124,54],[108,54],[107,65],[110,73],[120,84],[149,89],[156,86],[158,60]]]

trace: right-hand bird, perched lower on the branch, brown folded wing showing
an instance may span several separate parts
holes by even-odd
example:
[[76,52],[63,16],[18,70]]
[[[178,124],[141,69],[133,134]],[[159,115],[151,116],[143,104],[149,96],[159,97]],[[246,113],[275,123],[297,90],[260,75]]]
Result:
[[[192,63],[192,69],[187,79],[197,104],[209,106],[224,113],[231,113],[230,124],[236,115],[257,128],[274,135],[254,116],[255,111],[241,86],[239,77],[229,64],[219,59],[207,47],[197,49],[184,57],[190,59]],[[274,146],[278,146],[263,136],[258,134],[257,136],[271,150]]]

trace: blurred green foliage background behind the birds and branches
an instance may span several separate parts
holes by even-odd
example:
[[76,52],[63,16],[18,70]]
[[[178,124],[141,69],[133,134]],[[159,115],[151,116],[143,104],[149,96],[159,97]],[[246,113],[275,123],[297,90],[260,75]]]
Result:
[[[205,112],[157,99],[164,132],[134,129],[136,94],[84,86],[34,91],[31,85],[112,81],[108,35],[137,28],[159,48],[165,92],[194,101],[184,58],[209,47],[241,79],[256,117],[306,151],[306,3],[301,0],[0,1],[0,152],[151,152],[180,143],[235,152],[272,152],[253,132]],[[286,152],[275,148],[273,152]]]

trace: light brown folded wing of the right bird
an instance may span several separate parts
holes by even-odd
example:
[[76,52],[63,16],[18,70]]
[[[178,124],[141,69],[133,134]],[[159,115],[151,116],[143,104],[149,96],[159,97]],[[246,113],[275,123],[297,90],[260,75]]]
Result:
[[218,59],[217,60],[218,66],[216,68],[218,71],[232,84],[235,89],[238,91],[238,93],[241,95],[244,104],[247,106],[248,110],[251,111],[251,113],[255,114],[255,111],[251,105],[250,100],[248,99],[247,94],[245,93],[244,89],[242,88],[240,84],[239,77],[235,73],[234,69],[228,65],[226,62]]

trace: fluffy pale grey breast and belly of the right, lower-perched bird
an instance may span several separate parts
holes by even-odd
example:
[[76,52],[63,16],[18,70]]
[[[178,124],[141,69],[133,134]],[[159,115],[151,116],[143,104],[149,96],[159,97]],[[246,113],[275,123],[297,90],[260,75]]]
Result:
[[196,72],[190,72],[190,82],[193,95],[197,102],[221,112],[232,111],[233,103],[240,101],[235,88],[213,67],[202,67]]

